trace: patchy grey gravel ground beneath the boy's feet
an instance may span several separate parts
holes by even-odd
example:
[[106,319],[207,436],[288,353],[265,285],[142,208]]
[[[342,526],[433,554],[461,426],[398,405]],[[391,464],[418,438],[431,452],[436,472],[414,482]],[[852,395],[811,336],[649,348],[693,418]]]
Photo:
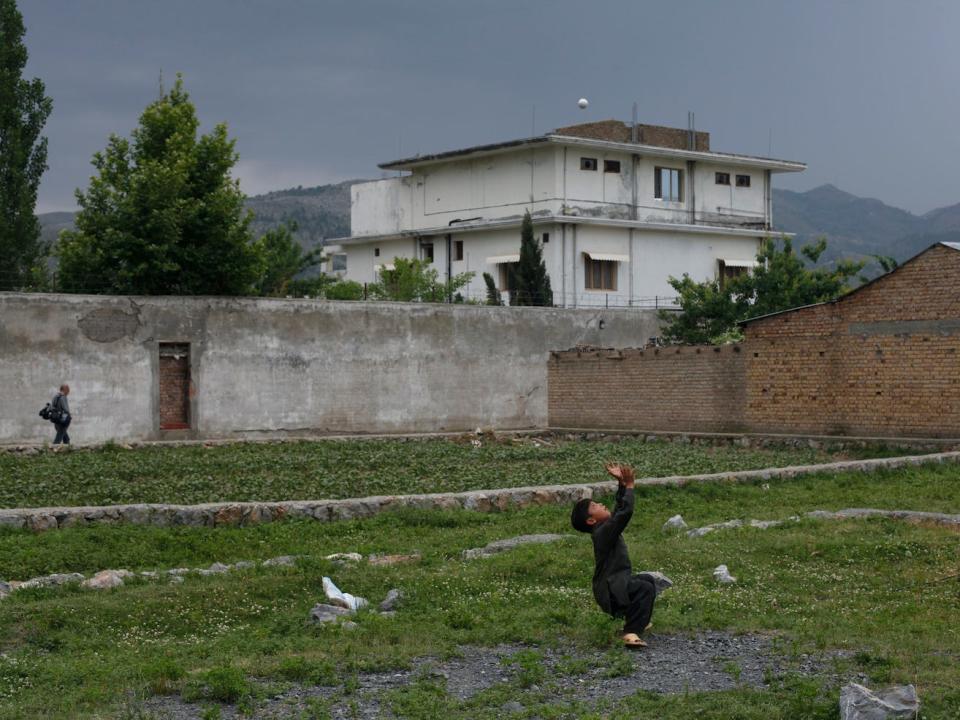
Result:
[[[504,706],[504,715],[519,710],[516,701],[548,690],[552,702],[613,701],[638,690],[656,693],[716,692],[738,686],[763,689],[768,678],[784,673],[817,676],[831,684],[841,680],[862,681],[863,676],[840,678],[833,660],[847,657],[842,652],[801,655],[789,659],[775,647],[771,636],[734,635],[705,632],[695,635],[647,635],[649,648],[639,652],[590,652],[573,648],[540,651],[542,678],[529,688],[518,681],[520,668],[511,662],[521,651],[536,648],[501,645],[494,648],[463,647],[460,655],[445,661],[422,658],[412,670],[362,674],[355,691],[345,696],[341,687],[303,687],[293,685],[283,693],[260,701],[258,718],[299,718],[310,703],[321,701],[330,716],[341,718],[393,717],[383,694],[411,684],[418,678],[435,679],[445,684],[448,694],[458,701],[501,683],[515,688],[515,701]],[[576,668],[572,672],[570,668]],[[611,677],[613,676],[613,677]],[[351,707],[351,705],[353,707]],[[512,707],[508,707],[512,706]],[[355,708],[355,709],[354,709]],[[236,707],[221,706],[221,718],[240,718]],[[158,720],[199,720],[204,706],[186,703],[179,697],[154,697],[143,705],[145,717]],[[359,713],[359,714],[357,714]]]

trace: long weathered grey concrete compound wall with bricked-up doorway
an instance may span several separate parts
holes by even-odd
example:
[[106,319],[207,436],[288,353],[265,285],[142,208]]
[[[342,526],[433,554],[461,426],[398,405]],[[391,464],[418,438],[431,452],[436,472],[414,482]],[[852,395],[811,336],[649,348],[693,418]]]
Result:
[[[0,443],[545,426],[547,358],[641,346],[653,311],[0,293]],[[189,343],[189,430],[159,424],[159,344]]]

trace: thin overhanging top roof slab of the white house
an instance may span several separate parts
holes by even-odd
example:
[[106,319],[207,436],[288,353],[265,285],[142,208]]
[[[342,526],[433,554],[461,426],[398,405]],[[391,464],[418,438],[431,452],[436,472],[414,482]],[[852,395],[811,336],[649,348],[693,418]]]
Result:
[[610,140],[575,137],[573,135],[557,135],[554,133],[548,133],[546,135],[539,135],[536,137],[520,138],[517,140],[508,140],[506,142],[490,143],[486,145],[474,145],[473,147],[461,148],[458,150],[447,150],[445,152],[432,153],[429,155],[414,155],[413,157],[380,163],[378,167],[383,170],[413,170],[414,168],[423,165],[432,165],[434,163],[452,160],[454,158],[492,155],[503,153],[515,148],[547,145],[551,143],[636,153],[651,157],[672,157],[684,160],[702,160],[708,162],[731,162],[743,166],[768,169],[774,172],[800,172],[807,168],[806,163],[797,162],[795,160],[779,160],[777,158],[768,158],[758,155],[740,155],[736,153],[715,152],[713,150],[679,150],[677,148],[661,147],[659,145],[641,145],[639,143],[614,142]]

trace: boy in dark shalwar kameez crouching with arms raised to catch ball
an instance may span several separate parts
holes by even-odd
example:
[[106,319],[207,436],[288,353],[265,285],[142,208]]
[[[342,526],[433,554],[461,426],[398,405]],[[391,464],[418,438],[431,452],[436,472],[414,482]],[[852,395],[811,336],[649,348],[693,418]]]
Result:
[[593,596],[597,604],[610,615],[625,619],[624,645],[646,647],[640,633],[650,627],[656,585],[649,575],[633,574],[623,540],[623,531],[633,516],[633,468],[611,464],[607,472],[620,483],[613,513],[605,505],[585,499],[573,506],[570,521],[576,530],[590,533],[593,539]]

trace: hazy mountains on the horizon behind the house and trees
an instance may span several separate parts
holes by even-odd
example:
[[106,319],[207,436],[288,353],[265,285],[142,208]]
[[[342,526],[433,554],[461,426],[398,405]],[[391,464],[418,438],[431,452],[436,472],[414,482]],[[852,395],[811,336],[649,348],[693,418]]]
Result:
[[[356,182],[362,181],[297,187],[248,198],[247,207],[254,214],[254,235],[292,221],[297,223],[296,236],[305,248],[316,247],[330,238],[348,236],[350,186]],[[833,185],[821,185],[806,192],[775,189],[773,216],[778,230],[796,234],[797,245],[825,236],[828,244],[821,264],[843,257],[863,259],[869,261],[868,275],[879,272],[874,255],[903,262],[935,242],[960,242],[960,203],[914,215]],[[39,217],[44,237],[51,241],[73,223],[73,213],[69,212],[45,213]]]

